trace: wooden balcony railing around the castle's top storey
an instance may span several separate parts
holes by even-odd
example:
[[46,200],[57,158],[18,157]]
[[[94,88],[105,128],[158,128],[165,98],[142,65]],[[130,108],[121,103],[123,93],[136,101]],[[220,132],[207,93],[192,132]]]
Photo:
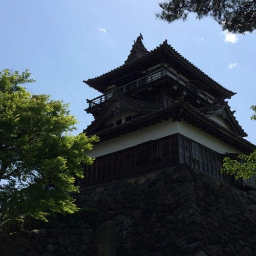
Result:
[[[184,79],[179,77],[174,72],[172,72],[168,69],[165,69],[165,68],[156,70],[156,71],[154,71],[150,74],[147,74],[146,76],[143,76],[137,80],[126,83],[123,86],[120,86],[118,89],[122,93],[130,92],[139,87],[144,86],[147,83],[153,82],[153,81],[158,80],[165,76],[171,77],[174,80],[178,81],[185,89],[188,89],[189,91],[196,93],[199,97],[203,98],[204,100],[207,100],[210,103],[213,103],[215,101],[214,97],[210,97],[208,94],[199,90],[197,87],[195,87],[190,82],[185,81]],[[106,100],[111,99],[113,96],[114,96],[114,90],[104,93],[94,99],[91,99],[91,100],[87,99],[87,103],[89,103],[89,108],[91,108],[92,106],[96,106],[102,102],[105,102]]]

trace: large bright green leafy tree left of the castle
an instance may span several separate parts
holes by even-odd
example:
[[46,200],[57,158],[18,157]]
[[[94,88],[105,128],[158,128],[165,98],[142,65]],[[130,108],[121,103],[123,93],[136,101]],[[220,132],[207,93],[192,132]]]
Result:
[[0,220],[76,211],[75,177],[83,177],[81,163],[93,162],[86,153],[97,138],[71,135],[68,105],[20,86],[33,81],[28,70],[0,72]]

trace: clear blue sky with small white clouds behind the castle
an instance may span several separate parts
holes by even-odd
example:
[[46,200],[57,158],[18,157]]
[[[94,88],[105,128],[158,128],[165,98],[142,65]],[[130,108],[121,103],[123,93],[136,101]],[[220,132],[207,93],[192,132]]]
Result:
[[94,78],[126,60],[139,33],[147,50],[165,39],[181,55],[225,88],[237,92],[231,110],[256,144],[256,35],[224,33],[212,19],[167,24],[156,19],[158,0],[1,1],[0,69],[29,69],[33,94],[50,94],[70,103],[78,131],[93,120],[86,99],[100,94],[82,80]]

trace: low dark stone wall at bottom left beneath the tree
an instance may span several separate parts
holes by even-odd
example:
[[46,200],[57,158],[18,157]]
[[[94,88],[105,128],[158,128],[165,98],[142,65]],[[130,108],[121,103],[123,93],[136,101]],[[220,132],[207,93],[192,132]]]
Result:
[[93,229],[48,229],[0,234],[0,255],[95,255]]

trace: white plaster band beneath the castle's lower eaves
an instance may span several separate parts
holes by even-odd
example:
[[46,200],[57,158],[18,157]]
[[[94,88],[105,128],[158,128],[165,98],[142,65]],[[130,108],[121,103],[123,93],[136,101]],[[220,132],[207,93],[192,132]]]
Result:
[[156,140],[176,133],[195,140],[198,143],[209,147],[211,150],[221,154],[225,154],[226,152],[241,153],[235,148],[218,140],[217,138],[202,132],[186,121],[173,122],[172,118],[170,118],[169,120],[163,121],[162,123],[150,125],[144,129],[103,141],[102,143],[98,143],[94,145],[93,150],[89,152],[89,155],[91,157],[103,156],[149,140]]

